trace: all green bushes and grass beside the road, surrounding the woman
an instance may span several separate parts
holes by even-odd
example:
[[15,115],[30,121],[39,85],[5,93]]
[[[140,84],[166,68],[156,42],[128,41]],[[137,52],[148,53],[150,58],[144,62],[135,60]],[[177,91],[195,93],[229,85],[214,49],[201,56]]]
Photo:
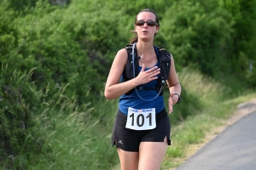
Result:
[[118,99],[104,98],[104,82],[143,8],[159,14],[155,45],[172,53],[183,88],[162,169],[255,96],[255,0],[3,0],[1,169],[119,168]]

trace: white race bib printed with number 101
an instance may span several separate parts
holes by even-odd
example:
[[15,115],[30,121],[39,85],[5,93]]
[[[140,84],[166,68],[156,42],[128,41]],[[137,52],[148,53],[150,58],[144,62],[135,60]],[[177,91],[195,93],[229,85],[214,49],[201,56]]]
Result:
[[125,127],[133,130],[149,130],[155,128],[155,108],[137,110],[129,107]]

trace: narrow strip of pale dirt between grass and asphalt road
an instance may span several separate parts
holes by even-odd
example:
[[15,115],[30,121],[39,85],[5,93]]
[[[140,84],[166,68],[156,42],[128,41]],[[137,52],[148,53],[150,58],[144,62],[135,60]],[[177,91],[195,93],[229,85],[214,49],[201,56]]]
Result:
[[207,144],[211,139],[215,138],[218,135],[218,133],[224,131],[226,127],[229,127],[231,124],[240,120],[243,116],[247,116],[253,111],[256,111],[256,99],[252,99],[247,103],[237,105],[237,110],[235,114],[231,116],[230,119],[226,121],[222,127],[217,127],[212,130],[212,133],[208,133],[202,144],[193,144],[191,145],[191,147],[189,147],[189,152],[186,159],[188,159],[189,156],[194,155],[197,150],[200,150],[201,147]]

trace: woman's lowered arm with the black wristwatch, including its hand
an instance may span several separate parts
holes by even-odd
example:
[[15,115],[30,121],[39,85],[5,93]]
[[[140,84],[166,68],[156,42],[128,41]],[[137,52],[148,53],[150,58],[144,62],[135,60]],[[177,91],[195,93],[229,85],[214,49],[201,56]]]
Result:
[[178,98],[182,91],[182,88],[181,88],[180,83],[177,78],[177,73],[175,70],[175,64],[174,64],[173,58],[171,58],[171,69],[170,69],[170,74],[169,74],[167,83],[168,83],[168,87],[169,87],[169,91],[170,91],[170,96],[168,99],[168,106],[169,106],[169,113],[171,114],[173,111],[172,105],[177,104]]

